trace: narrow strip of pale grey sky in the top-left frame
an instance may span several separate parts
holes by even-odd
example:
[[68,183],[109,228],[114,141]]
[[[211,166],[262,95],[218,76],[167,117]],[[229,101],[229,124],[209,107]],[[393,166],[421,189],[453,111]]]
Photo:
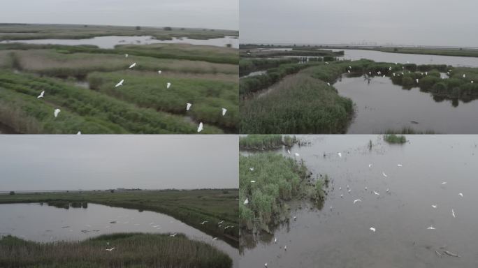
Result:
[[239,0],[0,0],[0,22],[239,28]]

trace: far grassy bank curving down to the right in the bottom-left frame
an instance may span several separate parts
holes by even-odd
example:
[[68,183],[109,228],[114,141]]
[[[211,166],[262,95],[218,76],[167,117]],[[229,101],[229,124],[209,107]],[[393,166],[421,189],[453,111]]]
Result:
[[[214,237],[238,246],[238,190],[131,191],[110,193],[17,193],[0,195],[1,203],[91,202],[111,207],[157,211],[168,214]],[[208,223],[201,224],[203,221]],[[217,223],[224,221],[219,227]],[[227,225],[233,228],[225,229]]]

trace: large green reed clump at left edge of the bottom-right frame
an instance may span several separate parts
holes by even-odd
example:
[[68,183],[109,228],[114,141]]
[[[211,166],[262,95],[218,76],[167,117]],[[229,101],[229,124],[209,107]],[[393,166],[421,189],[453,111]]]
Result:
[[[293,158],[274,153],[240,156],[241,228],[252,232],[270,232],[274,225],[287,221],[287,201],[303,198],[323,201],[324,184],[322,179],[312,181],[303,162]],[[247,204],[244,204],[245,200]]]

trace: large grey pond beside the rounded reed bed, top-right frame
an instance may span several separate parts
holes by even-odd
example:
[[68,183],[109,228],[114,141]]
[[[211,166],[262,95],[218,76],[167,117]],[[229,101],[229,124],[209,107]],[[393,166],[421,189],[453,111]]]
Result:
[[[402,89],[389,77],[342,77],[333,87],[356,105],[348,133],[385,133],[404,127],[435,133],[478,133],[478,101],[434,98],[418,87]],[[412,123],[418,122],[418,124]]]

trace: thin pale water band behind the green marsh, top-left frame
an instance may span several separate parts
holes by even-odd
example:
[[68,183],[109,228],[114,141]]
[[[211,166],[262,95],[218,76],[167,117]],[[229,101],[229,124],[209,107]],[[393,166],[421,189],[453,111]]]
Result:
[[54,45],[96,45],[100,48],[111,49],[115,45],[148,45],[156,43],[186,43],[191,45],[213,45],[216,47],[225,47],[231,44],[231,47],[239,48],[239,40],[236,36],[226,36],[224,38],[212,38],[206,40],[175,38],[173,40],[157,40],[152,36],[98,36],[87,39],[33,39],[33,40],[5,40],[1,43],[27,43],[27,44],[54,44]]

